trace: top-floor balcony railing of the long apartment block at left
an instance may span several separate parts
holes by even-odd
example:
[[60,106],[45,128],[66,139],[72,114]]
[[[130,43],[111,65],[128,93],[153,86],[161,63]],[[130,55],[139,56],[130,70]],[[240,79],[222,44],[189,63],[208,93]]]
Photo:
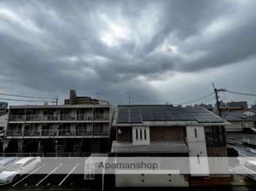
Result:
[[108,121],[107,114],[10,115],[9,121]]

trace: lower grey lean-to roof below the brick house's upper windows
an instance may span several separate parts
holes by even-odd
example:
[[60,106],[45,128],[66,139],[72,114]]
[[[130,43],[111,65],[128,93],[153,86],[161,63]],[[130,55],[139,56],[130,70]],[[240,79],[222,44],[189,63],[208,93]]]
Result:
[[111,153],[188,153],[184,142],[151,142],[148,145],[133,145],[131,142],[113,141]]

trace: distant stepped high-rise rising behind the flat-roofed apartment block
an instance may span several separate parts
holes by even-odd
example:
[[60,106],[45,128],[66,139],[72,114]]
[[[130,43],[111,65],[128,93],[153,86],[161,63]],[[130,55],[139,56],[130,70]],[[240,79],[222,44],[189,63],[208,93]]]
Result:
[[89,96],[77,96],[74,89],[69,92],[69,99],[65,99],[65,105],[97,105],[99,99],[93,99]]

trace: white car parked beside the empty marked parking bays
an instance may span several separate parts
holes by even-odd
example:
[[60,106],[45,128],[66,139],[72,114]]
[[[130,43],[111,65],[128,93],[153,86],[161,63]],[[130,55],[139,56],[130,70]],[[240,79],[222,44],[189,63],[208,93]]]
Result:
[[0,173],[0,184],[9,184],[17,182],[20,176],[29,173],[34,167],[41,163],[40,157],[25,157]]

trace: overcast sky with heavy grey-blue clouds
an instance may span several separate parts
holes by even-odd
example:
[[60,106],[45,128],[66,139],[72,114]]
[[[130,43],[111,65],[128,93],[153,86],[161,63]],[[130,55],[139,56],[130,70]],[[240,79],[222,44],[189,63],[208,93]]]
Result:
[[63,101],[75,87],[78,96],[100,93],[115,105],[128,103],[127,92],[134,104],[185,103],[213,92],[214,82],[256,94],[255,7],[254,0],[0,1],[0,93]]

